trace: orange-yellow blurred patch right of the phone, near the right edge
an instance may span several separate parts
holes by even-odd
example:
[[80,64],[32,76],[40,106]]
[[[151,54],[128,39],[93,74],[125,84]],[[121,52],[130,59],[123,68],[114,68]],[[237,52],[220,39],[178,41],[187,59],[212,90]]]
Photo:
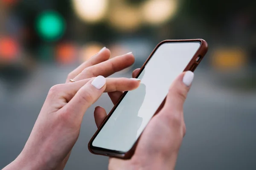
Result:
[[247,64],[245,51],[239,48],[221,48],[213,53],[212,65],[217,69],[239,69]]

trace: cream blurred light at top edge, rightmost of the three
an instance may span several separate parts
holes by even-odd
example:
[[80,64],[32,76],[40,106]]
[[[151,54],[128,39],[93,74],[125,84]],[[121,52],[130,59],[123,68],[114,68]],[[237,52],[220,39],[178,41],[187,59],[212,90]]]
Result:
[[171,20],[177,11],[177,0],[148,0],[142,13],[146,23],[160,24]]

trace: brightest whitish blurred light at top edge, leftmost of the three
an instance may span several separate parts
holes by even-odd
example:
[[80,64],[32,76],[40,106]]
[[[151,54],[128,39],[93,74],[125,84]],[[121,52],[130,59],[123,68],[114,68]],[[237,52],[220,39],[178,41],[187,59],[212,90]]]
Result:
[[106,14],[108,0],[73,0],[73,8],[77,16],[86,22],[95,23]]

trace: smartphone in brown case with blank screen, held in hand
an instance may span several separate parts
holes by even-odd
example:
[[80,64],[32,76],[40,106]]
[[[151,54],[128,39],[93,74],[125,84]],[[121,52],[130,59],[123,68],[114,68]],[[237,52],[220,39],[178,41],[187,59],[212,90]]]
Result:
[[160,42],[137,74],[140,86],[120,97],[90,140],[90,152],[130,159],[146,125],[163,107],[173,80],[183,71],[195,71],[207,50],[202,39]]

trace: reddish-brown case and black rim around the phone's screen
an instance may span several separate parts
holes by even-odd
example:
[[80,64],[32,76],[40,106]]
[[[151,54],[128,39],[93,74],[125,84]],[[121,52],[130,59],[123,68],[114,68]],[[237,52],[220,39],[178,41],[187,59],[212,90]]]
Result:
[[[150,54],[150,56],[148,57],[148,59],[145,61],[145,63],[143,64],[143,66],[140,68],[140,71],[138,72],[136,78],[138,77],[138,75],[140,75],[140,73],[143,71],[145,65],[147,64],[148,60],[153,56],[154,52],[157,50],[157,48],[162,45],[163,43],[166,42],[201,42],[200,47],[198,48],[198,51],[195,53],[195,55],[192,57],[192,59],[190,60],[189,64],[186,66],[186,68],[184,69],[184,71],[195,71],[195,68],[198,66],[198,64],[201,62],[201,60],[203,59],[204,55],[207,53],[208,51],[208,45],[207,42],[205,40],[202,39],[193,39],[193,40],[164,40],[162,42],[160,42],[156,48],[154,48],[154,50],[152,51],[152,53]],[[199,58],[198,58],[199,57]],[[120,151],[116,151],[116,150],[108,150],[108,149],[103,149],[103,148],[99,148],[99,147],[94,147],[92,145],[93,140],[95,139],[96,135],[99,133],[99,131],[102,129],[102,127],[105,125],[105,123],[108,121],[109,117],[112,115],[113,111],[116,109],[116,107],[119,105],[119,103],[122,101],[122,99],[124,98],[125,94],[127,92],[124,92],[124,94],[120,97],[119,101],[116,103],[116,105],[113,107],[113,109],[111,110],[111,112],[108,114],[108,116],[105,118],[105,120],[103,121],[102,125],[98,128],[98,130],[96,131],[96,133],[93,135],[93,137],[90,139],[90,142],[88,143],[88,149],[90,150],[91,153],[96,154],[96,155],[104,155],[104,156],[110,156],[110,157],[115,157],[115,158],[119,158],[119,159],[130,159],[133,154],[134,151],[136,149],[137,143],[140,140],[140,137],[137,139],[137,141],[134,143],[133,147],[126,153],[120,152]],[[166,98],[163,100],[163,102],[161,103],[161,105],[159,106],[159,108],[157,109],[156,113],[154,113],[154,116],[163,108],[163,105],[166,101]],[[153,117],[153,116],[152,116]],[[141,136],[141,135],[140,135]]]

